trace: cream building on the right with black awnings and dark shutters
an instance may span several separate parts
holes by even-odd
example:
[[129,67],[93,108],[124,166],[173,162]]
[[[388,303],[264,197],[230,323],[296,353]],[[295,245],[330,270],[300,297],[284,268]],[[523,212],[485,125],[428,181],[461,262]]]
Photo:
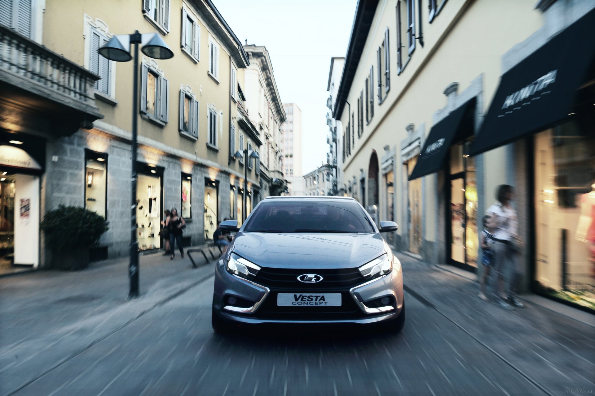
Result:
[[[569,83],[566,89],[571,94],[560,94],[576,98],[568,104],[568,111],[562,104],[548,105],[566,111],[564,117],[544,121],[548,118],[542,114],[552,111],[547,107],[538,111],[537,103],[545,101],[533,100],[533,107],[525,107],[536,109],[535,114],[521,110],[522,103],[513,103],[519,95],[524,98],[548,93],[548,86],[563,86],[563,82],[552,85],[558,65],[548,65],[540,53],[547,46],[554,52],[565,49],[554,38],[568,37],[572,31],[586,40],[592,15],[593,5],[586,2],[539,2],[537,7],[533,1],[358,3],[342,80],[333,97],[333,116],[343,126],[339,185],[378,221],[399,223],[399,231],[390,237],[396,249],[428,262],[481,273],[477,263],[483,215],[496,202],[497,186],[512,185],[518,196],[519,233],[526,247],[521,257],[523,289],[561,300],[578,299],[581,306],[595,307],[589,275],[595,261],[587,247],[575,246],[576,239],[570,237],[577,221],[559,223],[569,207],[577,212],[573,217],[580,216],[580,197],[591,191],[593,155],[577,147],[592,147],[592,120],[577,121],[580,132],[566,148],[565,156],[580,158],[575,168],[557,164],[539,176],[537,160],[543,153],[552,164],[563,163],[561,152],[552,148],[558,143],[552,142],[577,130],[568,124],[572,121],[568,116],[577,111],[571,106],[583,106],[579,99],[586,103],[593,96],[585,88],[594,77],[585,66],[593,49],[587,45],[572,52],[580,57],[585,51],[588,59],[575,65],[581,80]],[[548,67],[551,70],[540,71]],[[508,81],[515,86],[515,78],[519,86],[508,94],[512,99],[502,100],[510,104],[506,110],[511,113],[500,115],[497,110],[504,108],[500,96]],[[524,103],[530,104],[531,99]],[[519,116],[518,122],[489,129],[504,117],[512,119],[512,113]],[[524,128],[523,123],[535,126]],[[535,135],[547,128],[553,128],[547,132],[549,140]],[[540,151],[542,144],[550,146],[549,154]],[[571,168],[581,174],[572,181],[565,176]],[[543,198],[543,194],[558,198]],[[547,223],[540,214],[547,211],[543,205],[559,208],[556,226],[540,225]],[[550,240],[540,244],[542,231]],[[587,237],[584,240],[590,243]],[[542,252],[545,246],[556,245],[568,248]],[[583,253],[571,259],[571,246]],[[550,265],[543,264],[544,256]]]

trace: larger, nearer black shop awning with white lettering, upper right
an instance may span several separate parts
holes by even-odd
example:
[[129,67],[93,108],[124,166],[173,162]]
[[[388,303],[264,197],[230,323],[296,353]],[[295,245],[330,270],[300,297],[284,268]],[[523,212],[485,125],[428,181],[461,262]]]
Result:
[[592,77],[595,9],[510,69],[500,80],[471,155],[569,118],[577,89]]

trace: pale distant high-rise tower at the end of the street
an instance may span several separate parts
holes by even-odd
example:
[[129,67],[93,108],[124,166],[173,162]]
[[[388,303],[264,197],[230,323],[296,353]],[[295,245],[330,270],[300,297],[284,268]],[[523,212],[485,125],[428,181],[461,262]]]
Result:
[[285,178],[302,177],[302,110],[295,103],[283,103],[287,116],[281,127],[281,172]]

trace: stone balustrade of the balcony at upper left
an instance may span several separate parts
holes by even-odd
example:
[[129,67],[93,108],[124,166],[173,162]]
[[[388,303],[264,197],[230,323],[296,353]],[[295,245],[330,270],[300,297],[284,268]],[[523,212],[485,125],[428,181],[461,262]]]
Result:
[[0,24],[0,81],[102,118],[95,106],[99,76]]

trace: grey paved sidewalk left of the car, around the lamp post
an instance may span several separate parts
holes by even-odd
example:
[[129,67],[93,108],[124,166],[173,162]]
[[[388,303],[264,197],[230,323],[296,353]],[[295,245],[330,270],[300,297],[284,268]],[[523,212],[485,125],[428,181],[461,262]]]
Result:
[[161,254],[139,261],[140,297],[134,300],[127,300],[128,259],[0,278],[0,394],[208,279],[214,265],[193,269],[187,256],[170,261]]

